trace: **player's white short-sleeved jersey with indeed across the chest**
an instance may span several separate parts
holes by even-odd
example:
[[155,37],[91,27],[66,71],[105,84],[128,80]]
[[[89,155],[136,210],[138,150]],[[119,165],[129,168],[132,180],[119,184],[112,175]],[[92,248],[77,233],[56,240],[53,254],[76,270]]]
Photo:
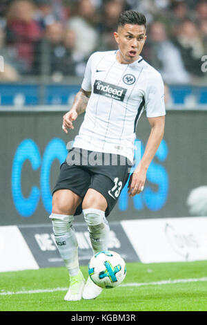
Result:
[[135,130],[141,113],[165,115],[161,75],[141,57],[120,64],[117,51],[96,52],[88,59],[81,88],[91,91],[73,147],[119,154],[132,162]]

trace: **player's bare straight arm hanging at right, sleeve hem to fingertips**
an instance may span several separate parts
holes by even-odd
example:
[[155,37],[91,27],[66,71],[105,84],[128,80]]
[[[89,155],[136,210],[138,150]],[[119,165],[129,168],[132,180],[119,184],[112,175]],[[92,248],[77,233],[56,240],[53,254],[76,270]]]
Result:
[[128,184],[128,193],[130,196],[139,194],[141,192],[141,187],[144,187],[148,167],[154,158],[160,142],[164,136],[165,116],[148,118],[148,121],[151,126],[150,136],[148,138],[144,155],[141,158],[141,162],[133,174],[130,176]]

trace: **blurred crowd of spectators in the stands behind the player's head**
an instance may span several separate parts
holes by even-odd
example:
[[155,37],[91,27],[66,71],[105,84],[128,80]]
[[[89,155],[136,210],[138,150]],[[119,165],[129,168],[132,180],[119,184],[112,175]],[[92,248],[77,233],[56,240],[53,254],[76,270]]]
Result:
[[204,0],[1,0],[1,81],[28,75],[82,77],[91,53],[114,50],[112,32],[122,10],[146,15],[142,57],[167,84],[204,82],[207,55],[207,1]]

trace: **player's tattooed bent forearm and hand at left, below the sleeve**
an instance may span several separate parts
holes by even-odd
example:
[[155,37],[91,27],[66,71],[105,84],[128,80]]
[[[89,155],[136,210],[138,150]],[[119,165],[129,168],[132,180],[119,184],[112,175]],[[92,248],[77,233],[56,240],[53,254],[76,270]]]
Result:
[[90,91],[84,91],[82,88],[75,95],[70,111],[63,115],[63,131],[68,133],[68,129],[74,129],[72,122],[77,119],[78,115],[86,111],[89,97]]

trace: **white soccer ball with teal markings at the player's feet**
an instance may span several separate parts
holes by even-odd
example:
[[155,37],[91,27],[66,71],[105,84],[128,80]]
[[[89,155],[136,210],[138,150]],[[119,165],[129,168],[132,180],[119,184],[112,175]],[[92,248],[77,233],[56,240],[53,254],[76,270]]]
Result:
[[88,275],[101,288],[115,288],[126,277],[126,264],[117,252],[103,250],[90,259]]

